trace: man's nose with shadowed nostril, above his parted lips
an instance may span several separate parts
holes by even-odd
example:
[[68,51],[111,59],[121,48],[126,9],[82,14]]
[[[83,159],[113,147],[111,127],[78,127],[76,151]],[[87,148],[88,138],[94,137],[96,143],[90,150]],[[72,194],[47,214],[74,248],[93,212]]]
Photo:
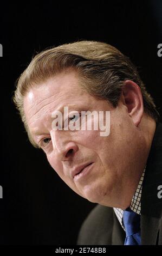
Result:
[[71,160],[79,148],[77,144],[70,139],[67,131],[52,130],[50,136],[54,155],[57,157],[57,160]]

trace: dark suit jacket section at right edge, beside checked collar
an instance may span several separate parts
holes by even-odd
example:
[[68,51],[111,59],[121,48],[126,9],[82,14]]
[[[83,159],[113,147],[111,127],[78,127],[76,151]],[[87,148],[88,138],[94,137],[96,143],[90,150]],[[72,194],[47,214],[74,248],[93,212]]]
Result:
[[158,186],[162,182],[162,125],[157,124],[150,155],[147,160],[141,196],[141,244],[158,243],[162,200]]

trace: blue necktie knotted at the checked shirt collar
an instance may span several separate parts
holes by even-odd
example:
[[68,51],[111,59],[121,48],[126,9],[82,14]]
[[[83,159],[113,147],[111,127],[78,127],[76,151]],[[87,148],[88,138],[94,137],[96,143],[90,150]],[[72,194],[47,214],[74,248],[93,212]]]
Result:
[[126,230],[124,245],[140,245],[140,215],[127,208],[123,214],[123,223]]

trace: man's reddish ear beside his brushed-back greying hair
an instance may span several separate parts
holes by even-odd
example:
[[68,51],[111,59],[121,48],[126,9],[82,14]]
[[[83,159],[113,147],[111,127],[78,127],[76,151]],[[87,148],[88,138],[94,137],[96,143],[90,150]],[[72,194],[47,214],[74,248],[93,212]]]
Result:
[[135,126],[140,124],[142,115],[144,114],[144,104],[141,94],[141,89],[131,80],[124,82],[124,88],[122,89],[124,97],[124,104],[127,107],[128,114],[132,118]]

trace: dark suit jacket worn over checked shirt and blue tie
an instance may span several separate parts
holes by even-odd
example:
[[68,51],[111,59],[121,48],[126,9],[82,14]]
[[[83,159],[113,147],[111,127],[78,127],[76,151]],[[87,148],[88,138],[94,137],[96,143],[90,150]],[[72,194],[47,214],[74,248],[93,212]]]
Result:
[[[157,124],[147,160],[141,195],[141,245],[162,245],[162,125]],[[78,245],[124,245],[122,229],[113,208],[97,205],[83,222]]]

